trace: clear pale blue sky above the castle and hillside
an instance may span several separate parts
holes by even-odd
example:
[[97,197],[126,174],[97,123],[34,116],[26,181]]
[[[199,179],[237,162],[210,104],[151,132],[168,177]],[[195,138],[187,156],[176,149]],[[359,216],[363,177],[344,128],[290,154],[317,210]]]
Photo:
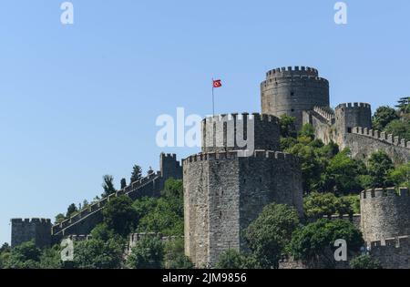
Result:
[[[11,218],[54,219],[133,164],[158,169],[156,118],[260,111],[268,69],[317,67],[331,101],[393,105],[410,93],[410,2],[63,0],[0,4],[0,242]],[[197,149],[164,149],[179,158]]]

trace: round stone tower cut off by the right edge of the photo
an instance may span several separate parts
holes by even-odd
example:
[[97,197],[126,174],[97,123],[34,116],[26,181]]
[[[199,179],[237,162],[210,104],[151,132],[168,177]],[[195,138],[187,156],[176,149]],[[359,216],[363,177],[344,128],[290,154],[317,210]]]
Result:
[[361,194],[364,241],[410,235],[410,195],[407,189],[365,190]]

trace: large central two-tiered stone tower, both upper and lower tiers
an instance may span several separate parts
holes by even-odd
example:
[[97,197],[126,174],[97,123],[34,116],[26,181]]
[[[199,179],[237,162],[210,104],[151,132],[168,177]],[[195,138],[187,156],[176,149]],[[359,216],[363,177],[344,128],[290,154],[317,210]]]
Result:
[[[231,122],[220,116],[202,126],[203,142],[221,145],[203,147],[202,153],[183,160],[185,252],[198,267],[212,266],[228,249],[246,251],[242,231],[267,204],[287,204],[302,215],[299,161],[272,150],[279,148],[278,118],[228,117]],[[232,126],[234,132],[229,131]],[[240,138],[240,144],[232,137]],[[241,138],[248,143],[245,148]],[[254,152],[245,157],[243,149],[252,145]]]

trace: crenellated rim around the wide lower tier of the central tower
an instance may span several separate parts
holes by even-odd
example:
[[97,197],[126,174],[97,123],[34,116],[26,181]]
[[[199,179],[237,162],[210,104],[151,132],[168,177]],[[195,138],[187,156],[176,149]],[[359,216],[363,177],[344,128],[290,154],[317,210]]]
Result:
[[289,162],[298,162],[297,157],[292,154],[281,152],[281,151],[271,151],[271,150],[255,150],[251,155],[245,155],[242,150],[226,151],[226,152],[209,152],[209,153],[199,153],[192,155],[187,159],[183,159],[184,165],[190,165],[192,162],[197,161],[208,161],[208,160],[223,160],[223,159],[238,159],[238,158],[256,158],[256,159],[277,159],[286,160]]

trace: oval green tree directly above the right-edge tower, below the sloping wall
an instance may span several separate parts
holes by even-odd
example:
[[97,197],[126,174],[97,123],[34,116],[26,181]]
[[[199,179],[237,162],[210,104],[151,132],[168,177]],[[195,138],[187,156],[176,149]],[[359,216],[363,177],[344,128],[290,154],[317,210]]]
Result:
[[392,159],[380,150],[374,152],[368,163],[369,175],[372,179],[372,188],[387,188],[393,185],[389,174],[395,169]]

